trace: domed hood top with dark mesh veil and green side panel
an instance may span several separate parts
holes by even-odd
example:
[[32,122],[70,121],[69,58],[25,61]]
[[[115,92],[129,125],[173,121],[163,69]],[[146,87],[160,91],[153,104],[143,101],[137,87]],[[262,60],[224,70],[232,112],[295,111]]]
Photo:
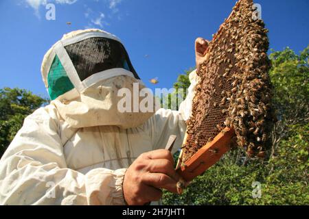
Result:
[[[115,69],[117,73],[113,75]],[[139,79],[120,40],[96,29],[62,38],[47,52],[42,66],[52,100],[73,88],[82,92],[93,85],[99,73],[100,79],[119,75]]]

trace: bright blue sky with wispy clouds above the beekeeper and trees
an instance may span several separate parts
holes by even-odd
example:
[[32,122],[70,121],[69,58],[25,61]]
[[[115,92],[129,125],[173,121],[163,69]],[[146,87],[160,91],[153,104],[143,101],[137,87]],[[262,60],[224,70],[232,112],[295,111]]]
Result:
[[[45,5],[56,5],[47,21]],[[150,88],[171,88],[195,65],[194,40],[211,39],[231,12],[230,0],[1,0],[0,88],[19,87],[47,96],[41,61],[63,34],[101,28],[122,39],[135,70]],[[309,44],[308,0],[256,0],[270,29],[271,48],[299,52]],[[71,25],[67,25],[71,22]],[[157,85],[148,82],[159,78]]]

